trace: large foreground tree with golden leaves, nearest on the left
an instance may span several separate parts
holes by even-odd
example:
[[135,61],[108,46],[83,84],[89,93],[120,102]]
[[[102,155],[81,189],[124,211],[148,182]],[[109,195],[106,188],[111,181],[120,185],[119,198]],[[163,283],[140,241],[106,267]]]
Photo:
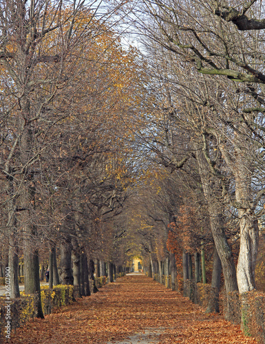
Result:
[[[83,96],[81,88],[91,81],[86,74],[85,53],[100,43],[100,34],[110,32],[103,21],[111,15],[112,10],[97,17],[89,4],[81,1],[33,1],[30,5],[27,1],[4,1],[1,6],[1,171],[6,180],[3,204],[8,213],[6,228],[11,247],[17,246],[17,233],[23,238],[27,293],[40,296],[39,215],[44,197],[38,192],[43,190],[40,184],[49,164],[45,158],[54,153],[52,148],[61,138],[59,124],[76,114],[78,93]],[[102,54],[106,50],[104,46]],[[91,58],[90,66],[95,64],[95,55]],[[49,184],[47,180],[45,184]],[[54,185],[51,188],[49,184],[49,188],[55,191]],[[49,219],[45,224],[51,226]],[[10,249],[14,271],[17,255]],[[38,316],[43,316],[40,301]]]

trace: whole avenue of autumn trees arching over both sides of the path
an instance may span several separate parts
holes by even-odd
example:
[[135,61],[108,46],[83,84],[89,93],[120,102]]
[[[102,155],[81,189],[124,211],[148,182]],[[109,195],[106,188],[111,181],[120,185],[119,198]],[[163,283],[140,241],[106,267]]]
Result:
[[[257,288],[264,18],[262,0],[2,1],[0,275],[10,266],[13,298],[22,264],[28,294],[41,264],[50,288],[87,295],[94,271],[112,281],[134,256],[173,289],[211,278],[209,312],[221,274],[226,292]],[[121,43],[125,22],[140,51]]]

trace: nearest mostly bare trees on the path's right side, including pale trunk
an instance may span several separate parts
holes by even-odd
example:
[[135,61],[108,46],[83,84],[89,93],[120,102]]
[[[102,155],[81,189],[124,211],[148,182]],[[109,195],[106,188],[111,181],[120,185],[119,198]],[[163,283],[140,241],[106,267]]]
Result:
[[226,292],[243,297],[255,290],[264,217],[264,3],[147,0],[135,16],[156,99],[141,140],[179,181],[199,240],[206,207],[213,266],[220,259]]

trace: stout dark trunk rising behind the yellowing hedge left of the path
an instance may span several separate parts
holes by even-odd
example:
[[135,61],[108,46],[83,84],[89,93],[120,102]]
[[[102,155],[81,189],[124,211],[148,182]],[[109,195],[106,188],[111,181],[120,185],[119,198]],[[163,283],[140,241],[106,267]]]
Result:
[[71,267],[71,241],[68,239],[61,241],[61,261],[59,265],[59,275],[61,284],[70,285],[74,283]]

